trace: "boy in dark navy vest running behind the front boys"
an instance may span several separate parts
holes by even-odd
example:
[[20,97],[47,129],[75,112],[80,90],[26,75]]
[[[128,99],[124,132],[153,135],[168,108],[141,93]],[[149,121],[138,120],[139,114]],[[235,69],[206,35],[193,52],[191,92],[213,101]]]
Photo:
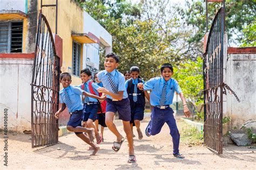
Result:
[[[135,124],[138,132],[139,139],[143,138],[142,131],[140,130],[140,121],[144,118],[145,110],[145,97],[150,101],[149,94],[147,91],[138,89],[138,83],[145,83],[139,78],[139,67],[132,66],[130,68],[131,79],[125,81],[125,88],[128,93],[131,106],[131,129],[133,129],[133,123]],[[133,130],[132,130],[133,131]]]

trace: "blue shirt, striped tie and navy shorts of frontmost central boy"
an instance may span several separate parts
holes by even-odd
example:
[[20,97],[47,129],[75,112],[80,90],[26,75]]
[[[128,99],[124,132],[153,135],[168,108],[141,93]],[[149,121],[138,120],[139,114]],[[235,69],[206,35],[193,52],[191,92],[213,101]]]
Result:
[[120,101],[107,95],[106,112],[111,111],[116,113],[118,111],[119,119],[131,121],[130,101],[125,88],[124,75],[116,69],[111,73],[108,73],[107,70],[102,70],[98,73],[98,79],[103,83],[103,86],[112,93],[117,94],[118,91],[124,91],[123,99]]

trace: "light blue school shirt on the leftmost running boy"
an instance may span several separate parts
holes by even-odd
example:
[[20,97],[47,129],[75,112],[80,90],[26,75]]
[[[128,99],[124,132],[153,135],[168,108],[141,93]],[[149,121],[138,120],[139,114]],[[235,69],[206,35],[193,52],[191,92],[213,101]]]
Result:
[[66,102],[65,92],[64,92],[65,89],[68,92],[69,99],[71,102],[71,108],[68,108],[68,105],[66,105],[69,112],[74,112],[76,110],[82,110],[83,103],[81,101],[81,95],[83,94],[84,90],[82,90],[81,88],[79,88],[77,86],[69,86],[69,87],[63,88],[62,90],[59,91],[60,103]]

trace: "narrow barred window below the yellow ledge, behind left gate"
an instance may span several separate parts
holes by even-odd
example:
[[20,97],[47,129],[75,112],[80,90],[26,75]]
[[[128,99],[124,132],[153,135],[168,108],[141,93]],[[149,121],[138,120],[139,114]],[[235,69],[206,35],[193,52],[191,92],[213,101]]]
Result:
[[72,74],[79,76],[80,72],[81,45],[73,41]]

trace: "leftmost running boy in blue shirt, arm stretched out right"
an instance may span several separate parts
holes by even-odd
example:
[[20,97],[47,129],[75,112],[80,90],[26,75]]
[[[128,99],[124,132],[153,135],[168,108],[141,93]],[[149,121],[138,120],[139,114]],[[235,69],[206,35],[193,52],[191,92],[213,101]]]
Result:
[[[91,155],[95,155],[99,151],[99,146],[93,143],[95,135],[94,129],[83,128],[81,126],[83,104],[80,95],[97,98],[98,100],[104,100],[105,97],[92,95],[80,89],[79,87],[70,86],[71,82],[71,75],[69,73],[60,74],[60,83],[62,83],[63,89],[59,91],[59,98],[62,107],[55,113],[55,117],[58,119],[60,112],[68,107],[70,118],[66,129],[71,132],[75,132],[76,136],[85,141],[87,144],[91,145],[94,149]],[[89,137],[85,136],[83,132],[86,132]]]

